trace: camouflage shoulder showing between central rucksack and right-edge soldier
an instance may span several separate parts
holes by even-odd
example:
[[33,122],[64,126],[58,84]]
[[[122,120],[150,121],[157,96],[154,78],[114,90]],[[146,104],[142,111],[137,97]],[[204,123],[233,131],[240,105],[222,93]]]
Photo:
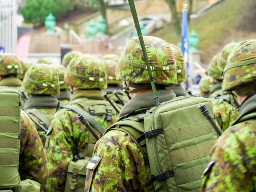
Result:
[[231,123],[238,118],[236,108],[226,101],[220,102],[220,99],[212,101],[213,111],[216,116],[216,122],[220,125],[222,131],[230,127]]

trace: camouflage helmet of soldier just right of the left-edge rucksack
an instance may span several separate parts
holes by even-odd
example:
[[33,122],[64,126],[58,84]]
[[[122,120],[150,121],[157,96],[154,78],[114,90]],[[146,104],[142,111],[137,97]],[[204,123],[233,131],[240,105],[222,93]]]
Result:
[[47,64],[32,65],[22,81],[22,89],[34,95],[59,95],[58,73]]

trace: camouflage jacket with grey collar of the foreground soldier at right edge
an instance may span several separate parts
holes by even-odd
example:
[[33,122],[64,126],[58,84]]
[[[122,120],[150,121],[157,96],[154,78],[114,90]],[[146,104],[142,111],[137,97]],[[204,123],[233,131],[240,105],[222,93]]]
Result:
[[239,119],[218,139],[204,173],[202,191],[256,190],[256,96],[239,110]]

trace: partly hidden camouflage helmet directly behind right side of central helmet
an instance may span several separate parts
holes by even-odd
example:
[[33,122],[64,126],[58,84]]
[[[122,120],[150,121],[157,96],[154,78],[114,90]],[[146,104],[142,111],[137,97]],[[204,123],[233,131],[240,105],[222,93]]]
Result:
[[186,81],[186,68],[184,63],[183,53],[179,47],[174,44],[169,44],[175,56],[175,62],[177,66],[177,81],[178,83]]

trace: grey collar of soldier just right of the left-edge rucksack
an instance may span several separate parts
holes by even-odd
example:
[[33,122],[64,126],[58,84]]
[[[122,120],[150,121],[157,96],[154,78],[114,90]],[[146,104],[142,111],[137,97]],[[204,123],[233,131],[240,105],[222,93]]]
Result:
[[26,101],[24,105],[24,110],[26,109],[52,109],[56,108],[58,105],[58,99],[56,99],[53,96],[40,96],[35,95],[32,97],[29,97],[29,99]]

